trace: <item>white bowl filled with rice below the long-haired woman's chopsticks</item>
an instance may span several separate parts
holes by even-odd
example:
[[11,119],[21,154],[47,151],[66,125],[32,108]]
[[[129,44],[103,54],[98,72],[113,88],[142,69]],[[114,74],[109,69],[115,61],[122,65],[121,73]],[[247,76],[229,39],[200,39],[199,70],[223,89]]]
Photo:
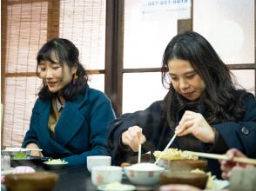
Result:
[[139,163],[124,168],[125,175],[136,185],[153,185],[159,181],[159,175],[165,168],[152,163]]

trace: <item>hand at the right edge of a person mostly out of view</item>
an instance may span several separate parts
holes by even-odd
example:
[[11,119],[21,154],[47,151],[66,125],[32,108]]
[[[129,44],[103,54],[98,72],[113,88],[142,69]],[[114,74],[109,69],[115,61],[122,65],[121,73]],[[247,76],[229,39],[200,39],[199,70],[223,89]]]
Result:
[[221,170],[222,170],[222,178],[229,179],[232,174],[232,170],[235,168],[252,168],[253,165],[251,164],[244,164],[244,163],[238,163],[235,161],[232,161],[233,157],[246,157],[243,153],[241,153],[237,148],[229,149],[226,152],[226,156],[228,160],[220,161],[221,164]]

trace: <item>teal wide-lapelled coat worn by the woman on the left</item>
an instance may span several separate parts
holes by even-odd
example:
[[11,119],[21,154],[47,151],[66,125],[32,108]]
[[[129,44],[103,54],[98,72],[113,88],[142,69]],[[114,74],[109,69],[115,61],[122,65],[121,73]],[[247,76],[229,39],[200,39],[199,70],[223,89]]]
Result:
[[70,166],[86,165],[89,155],[110,155],[106,144],[107,126],[115,119],[110,100],[104,93],[85,88],[84,96],[65,102],[55,127],[55,139],[48,127],[51,100],[38,98],[32,110],[30,128],[22,147],[35,142],[43,155],[63,158]]

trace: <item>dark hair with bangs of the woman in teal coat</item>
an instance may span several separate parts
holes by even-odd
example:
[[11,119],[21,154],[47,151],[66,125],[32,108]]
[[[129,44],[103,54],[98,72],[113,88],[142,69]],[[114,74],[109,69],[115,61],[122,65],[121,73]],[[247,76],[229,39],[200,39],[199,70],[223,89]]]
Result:
[[[72,69],[77,67],[77,82],[72,84],[72,81],[64,87],[61,91],[61,95],[65,100],[71,101],[77,97],[77,95],[84,93],[84,86],[87,85],[88,75],[86,74],[84,67],[79,63],[79,51],[77,47],[71,43],[71,41],[64,38],[53,38],[51,41],[44,44],[44,46],[37,53],[37,76],[38,66],[42,61],[49,61],[55,63],[52,59],[52,55],[55,54],[58,63],[67,64]],[[74,76],[73,76],[74,77]],[[40,89],[38,96],[42,99],[51,99],[56,96],[56,93],[51,93],[48,86],[43,82],[42,89]]]

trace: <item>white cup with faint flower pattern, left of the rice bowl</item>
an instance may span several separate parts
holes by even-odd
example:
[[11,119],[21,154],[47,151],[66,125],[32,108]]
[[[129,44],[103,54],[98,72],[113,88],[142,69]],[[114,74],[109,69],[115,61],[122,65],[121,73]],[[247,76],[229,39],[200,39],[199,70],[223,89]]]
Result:
[[117,166],[99,166],[91,168],[91,181],[95,186],[122,181],[122,168]]

